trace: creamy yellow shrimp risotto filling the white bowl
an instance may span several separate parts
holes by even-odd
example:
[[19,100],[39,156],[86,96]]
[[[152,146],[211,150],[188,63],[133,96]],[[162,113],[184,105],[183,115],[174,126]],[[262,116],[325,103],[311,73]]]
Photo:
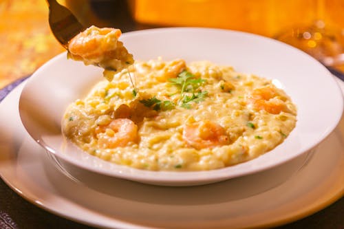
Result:
[[116,164],[202,171],[274,149],[296,122],[296,106],[271,80],[207,61],[158,58],[136,61],[72,102],[63,133]]

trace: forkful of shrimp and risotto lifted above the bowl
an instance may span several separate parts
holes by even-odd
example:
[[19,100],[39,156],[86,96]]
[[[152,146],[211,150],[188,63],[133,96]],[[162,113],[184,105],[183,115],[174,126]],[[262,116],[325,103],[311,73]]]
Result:
[[68,43],[68,56],[85,65],[97,65],[118,72],[133,64],[123,43],[118,41],[122,32],[114,28],[97,28],[92,25]]

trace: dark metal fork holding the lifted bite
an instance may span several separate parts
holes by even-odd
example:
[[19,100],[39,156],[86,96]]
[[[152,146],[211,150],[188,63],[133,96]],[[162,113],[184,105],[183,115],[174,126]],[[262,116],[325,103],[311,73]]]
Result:
[[68,42],[86,28],[74,14],[56,0],[46,0],[49,6],[49,25],[57,41],[67,50]]

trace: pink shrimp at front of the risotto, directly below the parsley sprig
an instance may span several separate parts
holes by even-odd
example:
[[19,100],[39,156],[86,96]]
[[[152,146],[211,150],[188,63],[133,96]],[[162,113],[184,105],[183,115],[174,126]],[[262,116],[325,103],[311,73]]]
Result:
[[186,124],[182,137],[195,149],[212,148],[229,143],[226,130],[219,124],[209,120]]

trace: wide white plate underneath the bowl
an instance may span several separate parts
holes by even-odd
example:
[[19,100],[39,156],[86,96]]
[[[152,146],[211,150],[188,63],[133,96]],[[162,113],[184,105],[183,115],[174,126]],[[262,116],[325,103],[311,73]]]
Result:
[[92,181],[87,187],[60,173],[26,133],[18,111],[22,88],[0,104],[0,120],[6,120],[0,122],[1,178],[28,201],[67,219],[101,228],[268,227],[310,215],[344,193],[344,120],[294,174],[286,166],[206,186],[111,178],[106,190]]

